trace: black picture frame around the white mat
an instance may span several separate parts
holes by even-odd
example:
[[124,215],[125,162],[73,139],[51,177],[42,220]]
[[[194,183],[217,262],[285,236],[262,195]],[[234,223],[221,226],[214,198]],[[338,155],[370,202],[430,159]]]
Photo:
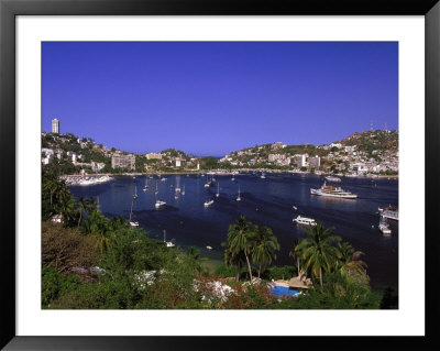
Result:
[[[440,150],[440,3],[439,0],[0,0],[0,194],[1,210],[1,339],[6,350],[180,350],[288,347],[389,349],[439,348],[435,318],[439,301],[435,254],[438,233],[435,199],[439,191]],[[425,189],[426,191],[426,336],[425,337],[22,337],[15,333],[15,17],[16,15],[424,15],[426,57]],[[421,190],[425,190],[421,189]],[[4,201],[7,200],[7,202]],[[421,263],[418,263],[421,264]],[[341,344],[341,341],[343,342]],[[282,344],[282,345],[280,345]]]

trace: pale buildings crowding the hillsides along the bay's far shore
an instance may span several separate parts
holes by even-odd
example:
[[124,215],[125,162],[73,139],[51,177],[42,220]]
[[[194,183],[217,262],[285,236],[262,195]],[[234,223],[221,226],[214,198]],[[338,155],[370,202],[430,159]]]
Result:
[[[382,134],[381,134],[382,133]],[[233,166],[233,167],[249,167],[249,166],[276,166],[284,167],[297,172],[314,171],[320,172],[332,172],[337,174],[352,174],[352,175],[365,175],[365,174],[377,174],[394,172],[398,173],[398,152],[392,150],[384,150],[380,143],[374,144],[371,140],[375,138],[383,138],[383,133],[391,133],[391,131],[377,131],[370,132],[369,134],[354,133],[350,135],[343,142],[330,143],[321,146],[312,146],[299,150],[307,150],[311,153],[294,153],[298,151],[298,147],[287,147],[287,144],[282,142],[266,144],[241,151],[232,152],[224,157],[220,158],[220,165]],[[397,132],[396,132],[397,133]],[[45,133],[43,133],[44,135]],[[359,150],[356,145],[358,138],[370,138],[370,146],[377,145],[377,150],[369,149],[366,152]],[[134,171],[136,165],[136,156],[134,154],[127,154],[116,149],[108,149],[106,146],[96,144],[92,140],[79,138],[76,139],[73,134],[61,134],[59,133],[59,121],[57,119],[52,120],[52,136],[56,141],[54,147],[42,149],[42,163],[43,165],[50,164],[53,160],[65,160],[72,162],[75,166],[81,167],[81,172],[91,169],[91,172],[99,173],[105,168],[106,163],[103,162],[86,162],[85,155],[80,152],[84,149],[96,151],[101,153],[111,165],[112,169],[127,169]],[[396,135],[397,136],[397,135]],[[75,140],[76,139],[76,140]],[[397,139],[396,139],[397,140]],[[59,143],[77,142],[79,147],[78,152],[64,152],[56,145]],[[346,145],[346,143],[351,145]],[[362,143],[361,143],[362,145]],[[287,147],[287,149],[286,149]],[[395,147],[396,150],[397,147]],[[321,156],[319,156],[319,155]],[[199,160],[196,157],[188,157],[186,154],[175,150],[167,150],[161,153],[147,153],[145,156],[145,171],[161,169],[161,168],[190,168],[200,169]],[[107,161],[106,161],[107,162]],[[222,166],[220,166],[222,167]]]

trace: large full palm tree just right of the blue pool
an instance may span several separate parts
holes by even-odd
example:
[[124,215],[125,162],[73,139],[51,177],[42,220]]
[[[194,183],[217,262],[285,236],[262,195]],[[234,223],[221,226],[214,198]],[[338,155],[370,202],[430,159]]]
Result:
[[334,265],[338,250],[332,245],[341,238],[331,233],[332,228],[326,229],[321,222],[308,229],[308,238],[301,239],[295,250],[301,253],[306,271],[311,270],[314,276],[319,275],[322,286],[322,271],[329,272]]

